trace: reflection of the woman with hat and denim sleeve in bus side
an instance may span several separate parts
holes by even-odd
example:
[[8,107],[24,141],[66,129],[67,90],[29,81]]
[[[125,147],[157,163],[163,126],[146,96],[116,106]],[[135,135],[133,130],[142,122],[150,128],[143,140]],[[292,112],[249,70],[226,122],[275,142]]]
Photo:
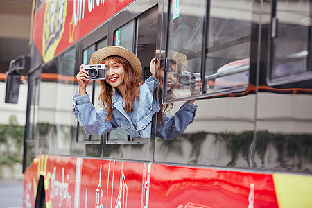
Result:
[[[172,109],[173,104],[162,104],[162,91],[166,90],[166,96],[173,98],[173,89],[178,85],[178,77],[182,69],[186,69],[187,57],[182,53],[170,52],[168,60],[167,83],[164,89],[164,51],[156,53],[156,58],[150,61],[150,71],[159,80],[159,92],[155,93],[156,102],[159,106],[157,112],[156,136],[163,139],[177,139],[191,124],[196,115],[197,106],[193,105],[195,100],[185,102],[174,116],[167,116],[165,112]],[[160,58],[160,62],[159,59]],[[155,119],[155,116],[154,116]],[[156,123],[156,121],[155,121]],[[152,132],[154,128],[152,127]]]

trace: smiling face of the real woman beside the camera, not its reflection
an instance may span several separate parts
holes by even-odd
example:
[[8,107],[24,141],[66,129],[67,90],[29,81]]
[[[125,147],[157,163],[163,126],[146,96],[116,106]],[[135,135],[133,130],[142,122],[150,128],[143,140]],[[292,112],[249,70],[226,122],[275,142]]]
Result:
[[112,58],[104,60],[106,68],[106,82],[112,87],[117,87],[123,96],[125,94],[125,69],[123,64],[114,61]]

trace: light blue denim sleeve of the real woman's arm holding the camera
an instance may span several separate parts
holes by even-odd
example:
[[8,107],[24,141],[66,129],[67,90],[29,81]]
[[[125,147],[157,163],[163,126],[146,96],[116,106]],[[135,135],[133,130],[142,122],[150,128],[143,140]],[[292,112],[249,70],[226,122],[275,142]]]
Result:
[[116,129],[114,119],[105,121],[107,111],[103,108],[96,111],[88,94],[84,96],[76,94],[73,96],[73,114],[75,114],[80,125],[83,126],[83,129],[89,135],[103,135]]

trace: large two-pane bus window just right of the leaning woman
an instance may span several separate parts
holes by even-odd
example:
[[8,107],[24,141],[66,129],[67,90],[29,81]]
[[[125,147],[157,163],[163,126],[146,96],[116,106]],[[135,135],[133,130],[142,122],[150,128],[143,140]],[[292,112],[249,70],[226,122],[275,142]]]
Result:
[[[206,12],[206,8],[209,12]],[[205,17],[206,13],[209,16]],[[185,55],[187,67],[177,71],[178,85],[170,92],[171,96],[168,96],[167,91],[166,101],[193,98],[200,94],[207,96],[235,92],[247,87],[252,1],[173,3],[168,21],[170,37],[168,51]],[[205,34],[207,37],[204,40]],[[203,47],[205,42],[206,45]],[[202,51],[202,48],[205,48],[205,51]],[[202,58],[202,54],[205,54],[205,58]],[[166,57],[170,58],[168,55]],[[168,66],[166,70],[168,71]],[[170,75],[167,73],[167,84],[171,81],[168,78]],[[196,89],[198,82],[200,89]]]

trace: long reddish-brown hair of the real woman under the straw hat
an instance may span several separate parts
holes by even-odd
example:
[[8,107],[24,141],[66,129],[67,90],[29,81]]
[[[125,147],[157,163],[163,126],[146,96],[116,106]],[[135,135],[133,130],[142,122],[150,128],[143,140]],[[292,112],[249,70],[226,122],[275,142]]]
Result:
[[[125,96],[123,97],[123,106],[125,112],[133,111],[133,102],[135,98],[137,102],[139,101],[139,94],[140,94],[140,85],[144,83],[140,76],[138,76],[135,71],[132,69],[130,62],[125,58],[120,56],[114,55],[107,57],[103,60],[103,64],[108,60],[112,60],[123,65],[123,69],[125,69]],[[101,83],[101,92],[98,96],[98,105],[105,108],[107,110],[106,119],[112,120],[112,96],[114,95],[113,87],[108,84],[105,80],[100,80]]]

